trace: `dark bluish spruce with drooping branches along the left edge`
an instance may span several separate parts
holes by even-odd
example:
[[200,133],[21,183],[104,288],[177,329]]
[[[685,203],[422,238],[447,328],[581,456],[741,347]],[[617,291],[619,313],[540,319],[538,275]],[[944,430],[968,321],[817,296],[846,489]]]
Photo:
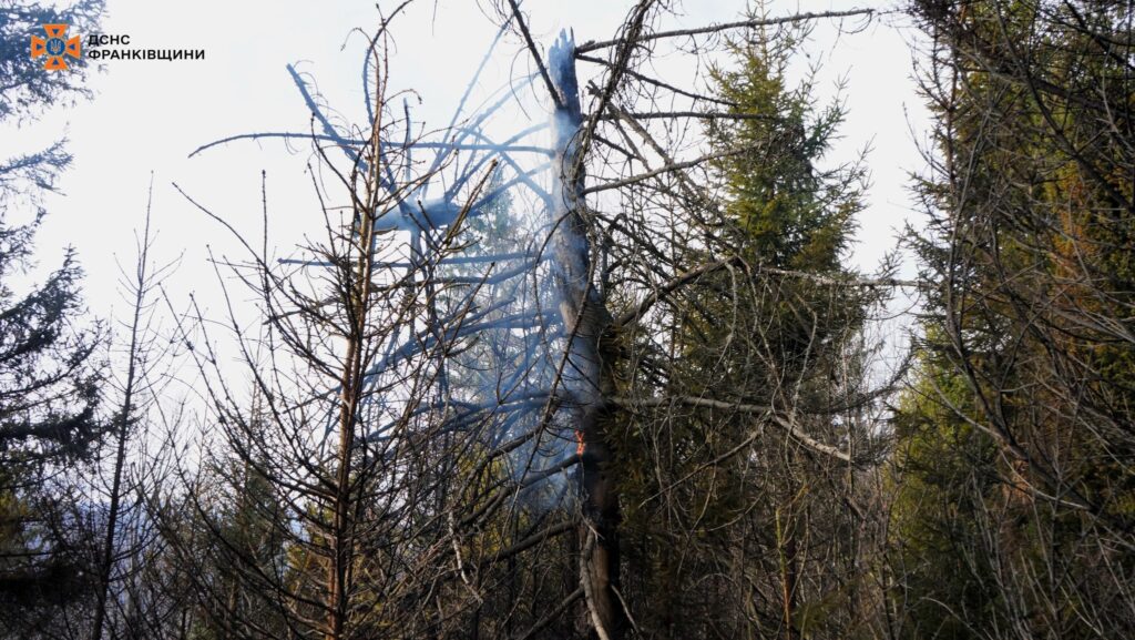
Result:
[[[26,125],[86,94],[81,70],[48,74],[31,60],[28,38],[48,23],[89,26],[101,7],[0,8],[0,124]],[[0,158],[0,632],[53,624],[45,605],[74,602],[86,589],[70,469],[91,459],[102,432],[101,332],[82,318],[73,250],[41,282],[27,277],[43,196],[70,159],[62,141]]]

